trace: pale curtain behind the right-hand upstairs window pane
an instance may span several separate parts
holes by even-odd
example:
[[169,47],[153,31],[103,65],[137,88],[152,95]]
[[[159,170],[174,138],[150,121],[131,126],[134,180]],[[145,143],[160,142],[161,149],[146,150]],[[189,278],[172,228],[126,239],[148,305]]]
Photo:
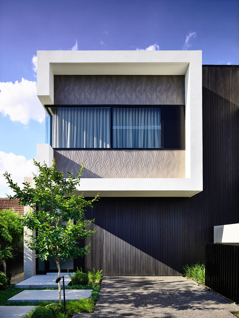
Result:
[[113,148],[161,148],[161,109],[114,107]]

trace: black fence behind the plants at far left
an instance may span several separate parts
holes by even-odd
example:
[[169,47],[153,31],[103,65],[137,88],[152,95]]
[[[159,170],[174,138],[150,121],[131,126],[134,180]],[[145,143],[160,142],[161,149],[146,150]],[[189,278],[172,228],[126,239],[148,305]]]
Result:
[[[2,249],[9,244],[9,242],[2,241],[0,242]],[[7,273],[11,273],[12,275],[17,275],[24,271],[23,266],[23,243],[18,243],[18,245],[14,248],[13,253],[15,254],[14,259],[7,259],[6,267]],[[0,266],[0,270],[3,270],[3,267]]]

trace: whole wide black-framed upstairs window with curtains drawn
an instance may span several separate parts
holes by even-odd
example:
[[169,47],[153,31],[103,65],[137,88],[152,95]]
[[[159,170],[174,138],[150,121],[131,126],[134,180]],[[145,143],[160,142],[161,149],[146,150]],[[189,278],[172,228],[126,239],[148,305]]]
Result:
[[46,107],[46,142],[61,149],[185,149],[185,106]]

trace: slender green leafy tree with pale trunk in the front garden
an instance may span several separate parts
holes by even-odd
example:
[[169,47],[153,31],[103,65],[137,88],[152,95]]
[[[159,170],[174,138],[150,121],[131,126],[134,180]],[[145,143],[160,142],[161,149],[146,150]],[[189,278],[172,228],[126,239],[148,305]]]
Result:
[[[43,165],[35,160],[33,162],[39,169],[38,175],[33,174],[35,188],[29,183],[23,183],[24,187],[21,190],[17,183],[13,183],[11,174],[6,171],[4,176],[16,193],[9,196],[10,199],[18,198],[19,204],[30,207],[30,212],[24,215],[22,222],[28,229],[36,230],[37,235],[28,235],[29,240],[25,243],[30,250],[38,251],[36,257],[41,260],[49,260],[52,257],[60,277],[60,260],[83,257],[89,252],[90,245],[80,247],[77,240],[90,237],[96,232],[96,229],[86,229],[94,220],[86,220],[85,208],[92,208],[93,202],[98,200],[98,195],[87,201],[83,195],[73,194],[78,190],[83,164],[76,177],[68,172],[68,178],[65,179],[63,173],[55,169],[55,160],[52,167],[47,167],[45,162]],[[70,220],[74,220],[74,224]],[[60,282],[58,288],[61,304]]]

